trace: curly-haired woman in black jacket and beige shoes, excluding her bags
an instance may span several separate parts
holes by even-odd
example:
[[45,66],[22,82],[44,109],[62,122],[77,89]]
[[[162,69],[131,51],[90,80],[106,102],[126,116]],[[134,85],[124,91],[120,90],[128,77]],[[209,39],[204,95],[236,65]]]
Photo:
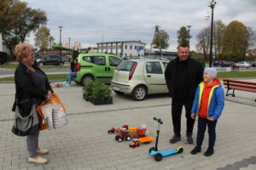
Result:
[[[19,101],[27,100],[26,105],[21,105],[22,112],[26,115],[30,113],[32,102],[39,105],[44,99],[52,98],[53,90],[44,71],[42,71],[36,61],[34,61],[34,48],[28,43],[20,43],[15,47],[16,59],[19,65],[15,70],[15,98]],[[20,105],[19,105],[20,106]],[[15,110],[15,104],[13,111]],[[26,136],[26,146],[29,157],[27,161],[33,163],[46,163],[47,160],[40,155],[48,154],[48,150],[38,147],[38,136],[40,127],[32,135]]]

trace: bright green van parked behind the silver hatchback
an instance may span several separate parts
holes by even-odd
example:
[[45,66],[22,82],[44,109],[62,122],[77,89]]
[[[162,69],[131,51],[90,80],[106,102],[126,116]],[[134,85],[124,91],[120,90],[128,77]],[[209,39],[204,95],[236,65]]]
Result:
[[74,81],[82,85],[89,80],[110,82],[113,71],[122,60],[113,54],[81,53],[78,57],[78,71]]

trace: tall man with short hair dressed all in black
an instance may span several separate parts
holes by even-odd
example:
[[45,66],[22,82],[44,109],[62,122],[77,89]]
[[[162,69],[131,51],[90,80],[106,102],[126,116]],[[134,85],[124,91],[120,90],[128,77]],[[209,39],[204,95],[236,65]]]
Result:
[[165,77],[169,94],[172,97],[172,125],[174,135],[170,143],[180,140],[181,115],[183,105],[187,118],[187,141],[193,144],[193,127],[195,120],[191,118],[191,107],[198,84],[202,81],[203,67],[200,62],[189,57],[188,45],[177,47],[177,58],[166,67]]

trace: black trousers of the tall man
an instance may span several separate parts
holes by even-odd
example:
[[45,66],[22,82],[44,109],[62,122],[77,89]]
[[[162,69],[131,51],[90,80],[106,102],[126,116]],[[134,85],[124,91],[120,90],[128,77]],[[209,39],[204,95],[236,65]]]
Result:
[[195,124],[195,119],[191,118],[191,108],[193,105],[193,99],[172,99],[172,125],[173,132],[177,136],[180,136],[181,115],[183,111],[183,105],[185,106],[187,118],[187,134],[193,133],[193,127]]

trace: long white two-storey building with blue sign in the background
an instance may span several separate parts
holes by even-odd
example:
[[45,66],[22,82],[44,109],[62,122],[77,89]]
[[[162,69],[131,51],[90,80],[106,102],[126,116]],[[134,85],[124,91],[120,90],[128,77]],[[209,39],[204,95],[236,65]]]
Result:
[[99,42],[97,51],[125,57],[144,57],[146,43],[140,41]]

